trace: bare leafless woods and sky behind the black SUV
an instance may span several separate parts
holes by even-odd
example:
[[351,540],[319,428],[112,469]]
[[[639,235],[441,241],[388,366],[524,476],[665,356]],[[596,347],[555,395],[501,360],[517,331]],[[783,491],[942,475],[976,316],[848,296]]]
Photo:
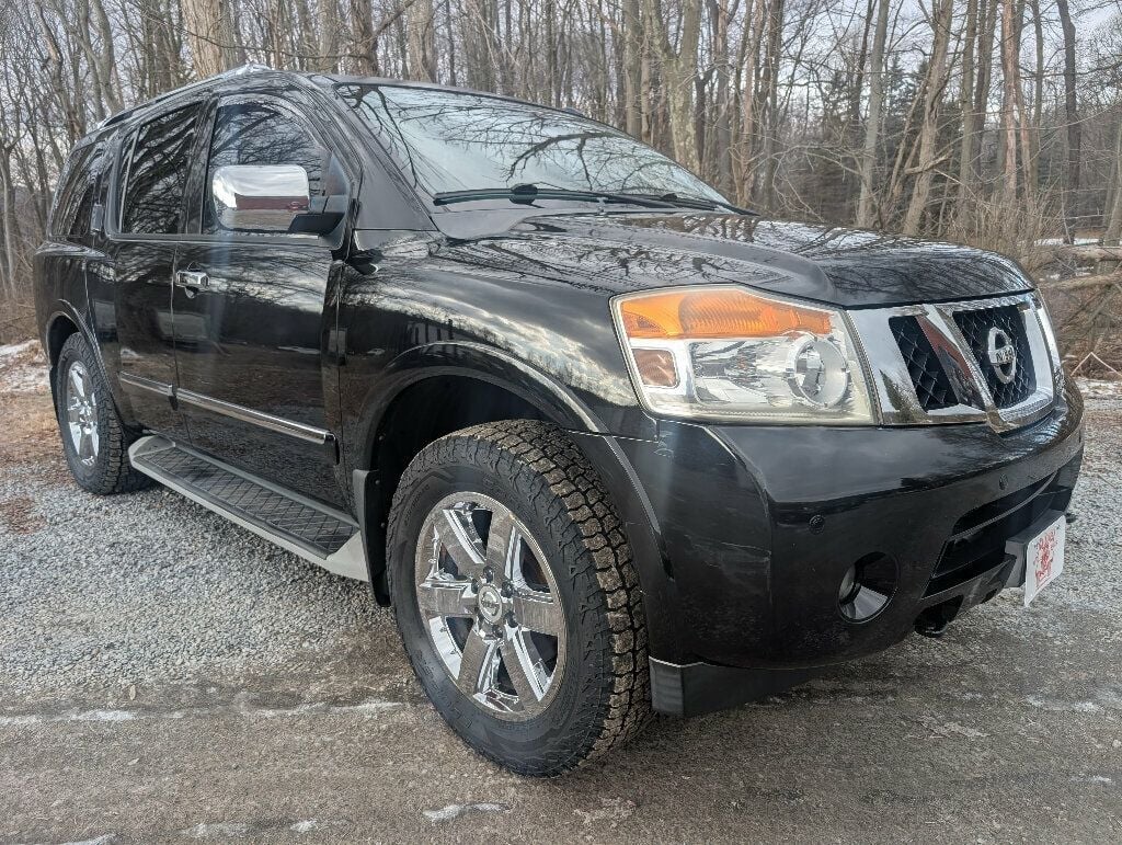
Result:
[[74,140],[263,62],[573,107],[765,213],[1004,251],[1118,357],[1122,0],[0,2],[0,340]]

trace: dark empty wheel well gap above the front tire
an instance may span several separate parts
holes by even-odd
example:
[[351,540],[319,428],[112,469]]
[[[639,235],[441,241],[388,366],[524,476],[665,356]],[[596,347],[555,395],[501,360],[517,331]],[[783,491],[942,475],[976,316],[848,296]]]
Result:
[[371,444],[373,495],[366,498],[367,548],[375,595],[388,604],[386,517],[405,468],[429,443],[453,431],[499,420],[544,420],[531,402],[469,376],[432,376],[399,393],[381,417]]

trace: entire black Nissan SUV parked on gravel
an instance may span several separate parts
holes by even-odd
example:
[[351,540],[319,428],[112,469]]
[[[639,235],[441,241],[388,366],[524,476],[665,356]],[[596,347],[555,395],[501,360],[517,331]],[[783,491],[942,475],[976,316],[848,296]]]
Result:
[[1015,264],[571,111],[240,68],[77,145],[36,276],[79,484],[368,580],[517,772],[1063,567],[1082,405]]

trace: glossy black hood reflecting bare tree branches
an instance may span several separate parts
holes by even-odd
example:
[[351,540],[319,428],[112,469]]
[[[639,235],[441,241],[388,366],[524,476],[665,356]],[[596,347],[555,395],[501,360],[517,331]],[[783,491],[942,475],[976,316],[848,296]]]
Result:
[[516,261],[519,272],[564,276],[613,294],[739,283],[844,307],[874,307],[1031,287],[1014,261],[971,247],[738,214],[522,217],[502,235],[456,241],[453,251],[470,251],[475,260],[499,261],[508,269],[516,269]]

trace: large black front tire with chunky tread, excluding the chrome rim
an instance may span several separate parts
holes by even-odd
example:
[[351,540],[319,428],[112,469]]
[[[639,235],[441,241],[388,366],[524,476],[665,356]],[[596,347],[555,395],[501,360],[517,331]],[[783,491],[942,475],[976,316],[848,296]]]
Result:
[[[568,650],[560,687],[536,716],[509,722],[457,687],[424,628],[414,560],[427,514],[473,490],[530,530],[560,594]],[[564,433],[506,421],[449,434],[405,470],[387,525],[398,630],[421,686],[469,745],[519,774],[557,775],[622,744],[649,720],[646,628],[631,547],[596,471]]]

